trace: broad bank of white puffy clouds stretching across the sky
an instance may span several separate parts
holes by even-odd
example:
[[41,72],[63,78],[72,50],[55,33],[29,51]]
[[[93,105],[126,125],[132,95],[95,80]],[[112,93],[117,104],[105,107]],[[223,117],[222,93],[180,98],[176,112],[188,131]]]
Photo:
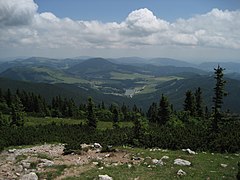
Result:
[[212,11],[173,23],[149,9],[132,11],[123,22],[58,18],[38,13],[33,0],[0,0],[0,47],[112,48],[193,46],[240,49],[240,11]]

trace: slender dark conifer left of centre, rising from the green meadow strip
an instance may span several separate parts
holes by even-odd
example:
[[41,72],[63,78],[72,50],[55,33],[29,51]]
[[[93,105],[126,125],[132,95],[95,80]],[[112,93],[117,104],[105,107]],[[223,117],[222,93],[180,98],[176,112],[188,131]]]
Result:
[[94,113],[94,103],[92,101],[92,98],[88,98],[88,105],[87,105],[87,120],[88,120],[88,126],[91,128],[97,127],[97,119],[95,117]]

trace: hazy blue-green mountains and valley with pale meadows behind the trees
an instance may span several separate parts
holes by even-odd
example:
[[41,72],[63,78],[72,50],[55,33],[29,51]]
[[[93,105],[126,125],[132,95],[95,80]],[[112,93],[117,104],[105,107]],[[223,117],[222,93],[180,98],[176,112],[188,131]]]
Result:
[[[187,90],[201,87],[205,104],[211,106],[214,77],[218,63],[199,65],[185,61],[155,58],[69,58],[31,57],[0,63],[0,87],[24,89],[51,97],[62,95],[86,102],[92,96],[97,103],[137,104],[146,110],[167,95],[181,109]],[[221,64],[220,64],[221,65]],[[225,109],[239,112],[240,64],[223,63],[226,70]]]

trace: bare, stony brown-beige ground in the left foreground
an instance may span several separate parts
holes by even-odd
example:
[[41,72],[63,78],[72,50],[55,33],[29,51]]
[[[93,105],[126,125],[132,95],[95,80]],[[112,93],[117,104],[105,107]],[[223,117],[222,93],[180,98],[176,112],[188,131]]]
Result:
[[68,167],[54,178],[60,180],[79,175],[93,166],[99,166],[101,169],[103,167],[100,167],[100,163],[107,167],[141,162],[141,159],[130,158],[126,151],[100,153],[99,148],[94,148],[93,145],[90,147],[89,150],[82,151],[80,155],[63,155],[64,145],[62,144],[45,144],[3,151],[0,154],[0,180],[34,180],[40,179],[38,175],[41,174],[41,179],[44,179],[47,178],[44,174],[51,170],[49,167]]

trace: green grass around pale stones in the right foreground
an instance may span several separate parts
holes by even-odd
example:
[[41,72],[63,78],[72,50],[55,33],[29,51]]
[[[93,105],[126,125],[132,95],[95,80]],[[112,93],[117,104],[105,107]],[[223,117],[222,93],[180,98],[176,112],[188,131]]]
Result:
[[[127,149],[136,156],[143,158],[151,157],[160,159],[162,156],[169,156],[169,159],[163,160],[164,166],[156,165],[149,168],[149,164],[144,162],[138,165],[132,165],[131,168],[127,164],[119,166],[104,167],[99,170],[98,167],[80,174],[78,177],[68,177],[67,180],[75,179],[94,179],[99,174],[108,174],[113,179],[236,179],[237,162],[240,160],[234,154],[211,154],[198,153],[189,155],[182,151],[155,151],[150,152],[149,149]],[[174,159],[182,158],[192,162],[189,167],[174,165]],[[147,162],[147,161],[145,161]],[[227,164],[226,168],[221,167],[221,164]],[[186,176],[179,177],[177,171],[182,169],[187,173]]]

